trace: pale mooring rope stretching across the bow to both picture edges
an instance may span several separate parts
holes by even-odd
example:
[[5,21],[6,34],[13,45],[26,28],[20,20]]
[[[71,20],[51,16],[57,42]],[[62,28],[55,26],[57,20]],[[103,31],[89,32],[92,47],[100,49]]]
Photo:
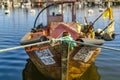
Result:
[[[55,39],[55,40],[56,41],[59,41],[59,40],[63,41],[63,39]],[[67,40],[67,41],[75,42],[75,43],[86,45],[86,46],[93,46],[93,47],[97,47],[97,48],[104,48],[104,49],[109,49],[109,50],[114,50],[114,51],[119,51],[120,52],[120,49],[117,49],[117,48],[112,48],[112,47],[107,47],[107,46],[100,46],[100,45],[94,45],[94,44],[89,44],[89,43],[83,43],[83,42],[74,41],[74,40]],[[44,42],[33,43],[33,44],[28,44],[28,45],[23,45],[23,46],[16,46],[16,47],[12,47],[12,48],[1,49],[0,53],[11,51],[11,50],[16,50],[16,49],[20,49],[20,48],[26,48],[26,47],[30,47],[30,46],[40,45],[40,44],[46,44],[46,43],[50,43],[50,42],[51,42],[51,40],[44,41]]]

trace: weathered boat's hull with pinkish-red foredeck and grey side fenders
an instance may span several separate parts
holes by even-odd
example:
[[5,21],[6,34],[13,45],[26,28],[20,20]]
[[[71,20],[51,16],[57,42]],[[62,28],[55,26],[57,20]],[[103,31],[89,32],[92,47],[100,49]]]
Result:
[[[43,37],[43,33],[41,32],[30,32],[21,40],[24,45],[34,44],[35,42],[46,42],[48,40],[47,43],[26,47],[25,50],[37,69],[43,75],[50,76],[55,80],[73,80],[80,78],[90,65],[94,63],[96,56],[101,50],[101,48],[80,44],[76,44],[76,46],[71,48],[71,42],[58,41],[53,44],[49,42],[49,40],[53,38],[60,39],[64,31],[69,32],[74,41],[78,39],[77,35],[79,33],[75,27],[69,27],[71,24],[73,23],[51,24],[50,34],[46,35],[46,37],[52,37],[49,39]],[[46,33],[46,31],[44,33]],[[103,41],[92,38],[80,38],[78,39],[78,42],[79,41],[96,45],[103,44]]]

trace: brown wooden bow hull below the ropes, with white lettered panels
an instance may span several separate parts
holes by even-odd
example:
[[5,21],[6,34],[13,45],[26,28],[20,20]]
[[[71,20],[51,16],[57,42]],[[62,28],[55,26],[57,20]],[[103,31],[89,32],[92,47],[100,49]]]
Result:
[[[40,46],[42,45],[39,45],[39,47]],[[81,51],[84,49],[88,52],[82,54],[88,54],[90,56],[86,62],[80,58]],[[82,76],[95,61],[100,50],[100,48],[88,46],[77,46],[73,50],[70,50],[69,44],[61,44],[43,50],[33,51],[29,51],[28,48],[26,48],[27,54],[37,69],[42,72],[43,75],[47,77],[50,76],[55,80],[73,80]]]

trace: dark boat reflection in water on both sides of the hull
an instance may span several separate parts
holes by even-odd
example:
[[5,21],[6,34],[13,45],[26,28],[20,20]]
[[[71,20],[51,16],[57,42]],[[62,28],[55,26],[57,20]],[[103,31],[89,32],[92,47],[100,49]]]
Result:
[[[81,68],[84,69],[84,67]],[[43,75],[41,72],[37,70],[37,68],[31,62],[31,60],[28,59],[25,69],[23,70],[23,80],[55,80],[55,79]],[[97,67],[93,63],[80,78],[74,80],[100,80],[99,73],[97,72]]]

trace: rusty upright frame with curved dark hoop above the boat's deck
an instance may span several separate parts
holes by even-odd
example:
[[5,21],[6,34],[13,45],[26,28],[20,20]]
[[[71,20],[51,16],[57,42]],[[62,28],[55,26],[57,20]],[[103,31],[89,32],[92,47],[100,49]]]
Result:
[[[46,9],[47,10],[47,25],[49,25],[51,22],[63,22],[63,4],[64,3],[72,3],[72,21],[76,20],[76,6],[75,1],[55,1],[55,2],[47,2],[47,6],[43,8],[37,15],[35,22],[34,22],[34,28],[36,27],[36,22],[39,17],[39,15]],[[61,6],[61,14],[54,14],[50,15],[49,7],[55,6],[55,5],[62,5]]]

